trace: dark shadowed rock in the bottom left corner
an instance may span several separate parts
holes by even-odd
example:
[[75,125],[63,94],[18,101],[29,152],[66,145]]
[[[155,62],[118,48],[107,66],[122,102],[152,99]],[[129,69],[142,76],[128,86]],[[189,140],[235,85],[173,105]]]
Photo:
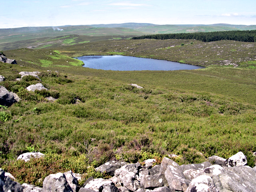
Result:
[[5,176],[4,170],[0,168],[0,191],[1,192],[22,192],[21,184],[11,180],[9,176]]

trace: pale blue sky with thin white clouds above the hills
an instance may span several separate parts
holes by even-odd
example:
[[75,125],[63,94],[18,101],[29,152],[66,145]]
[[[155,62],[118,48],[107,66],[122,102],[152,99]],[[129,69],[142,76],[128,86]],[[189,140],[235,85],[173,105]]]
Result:
[[3,0],[0,28],[119,24],[256,25],[256,0]]

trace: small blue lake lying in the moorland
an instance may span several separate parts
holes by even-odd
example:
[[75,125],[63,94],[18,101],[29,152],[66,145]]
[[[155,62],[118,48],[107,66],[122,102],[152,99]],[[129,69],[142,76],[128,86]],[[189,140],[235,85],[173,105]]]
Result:
[[181,64],[166,60],[138,58],[131,56],[82,56],[78,57],[84,62],[84,67],[92,69],[114,70],[114,71],[141,71],[141,70],[192,70],[204,68],[201,66]]

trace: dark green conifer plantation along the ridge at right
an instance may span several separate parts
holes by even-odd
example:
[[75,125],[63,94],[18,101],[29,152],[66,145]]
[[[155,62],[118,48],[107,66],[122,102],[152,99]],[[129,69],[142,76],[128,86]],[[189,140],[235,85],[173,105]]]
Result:
[[203,42],[234,40],[242,42],[256,42],[256,30],[246,31],[216,31],[176,34],[155,34],[133,37],[132,39],[194,39]]

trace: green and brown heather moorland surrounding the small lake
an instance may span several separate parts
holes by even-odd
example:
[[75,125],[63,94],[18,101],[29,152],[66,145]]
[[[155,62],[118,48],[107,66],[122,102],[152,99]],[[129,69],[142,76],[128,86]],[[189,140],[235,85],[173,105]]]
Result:
[[[92,27],[97,26],[88,29],[94,30]],[[0,108],[0,164],[4,170],[19,182],[42,186],[44,177],[70,169],[84,174],[84,180],[108,177],[94,167],[109,159],[142,162],[156,158],[159,162],[176,154],[176,162],[187,164],[212,155],[228,158],[242,151],[248,165],[255,165],[255,42],[136,40],[130,38],[142,33],[130,33],[131,28],[120,35],[99,29],[105,34],[86,36],[72,31],[62,35],[55,31],[55,36],[46,33],[41,37],[44,33],[40,32],[31,38],[33,35],[24,32],[19,35],[28,36],[22,41],[1,39],[1,50],[18,64],[0,64],[0,74],[6,78],[0,85],[22,99]],[[104,71],[84,68],[76,59],[112,54],[206,68]],[[27,86],[40,81],[30,76],[16,81],[21,71],[39,71],[48,91],[28,92]],[[50,102],[48,96],[57,100]],[[30,151],[46,156],[29,162],[15,160]]]

